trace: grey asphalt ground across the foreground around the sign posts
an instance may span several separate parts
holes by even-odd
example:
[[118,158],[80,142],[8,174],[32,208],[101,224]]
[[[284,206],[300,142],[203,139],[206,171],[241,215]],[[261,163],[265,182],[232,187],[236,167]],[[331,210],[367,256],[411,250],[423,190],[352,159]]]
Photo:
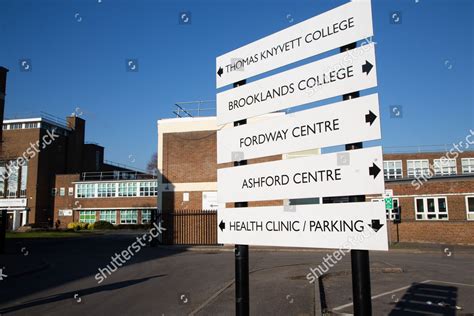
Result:
[[[146,247],[99,284],[94,277],[98,269],[110,265],[110,257],[134,241],[130,233],[9,240],[7,254],[0,257],[0,268],[11,273],[0,281],[0,313],[235,314],[232,251]],[[251,250],[251,314],[314,315],[319,287],[306,275],[327,253],[331,251]],[[473,252],[443,248],[429,253],[371,252],[374,315],[474,313],[473,259]],[[28,268],[33,269],[18,273]],[[351,313],[350,259],[344,258],[328,273],[323,282],[327,308]]]

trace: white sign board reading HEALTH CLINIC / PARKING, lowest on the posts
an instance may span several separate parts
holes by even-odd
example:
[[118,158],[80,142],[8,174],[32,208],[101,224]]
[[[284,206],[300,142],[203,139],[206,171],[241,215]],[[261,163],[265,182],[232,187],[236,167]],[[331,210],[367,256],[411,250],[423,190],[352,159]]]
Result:
[[383,202],[227,208],[217,223],[220,244],[388,250]]

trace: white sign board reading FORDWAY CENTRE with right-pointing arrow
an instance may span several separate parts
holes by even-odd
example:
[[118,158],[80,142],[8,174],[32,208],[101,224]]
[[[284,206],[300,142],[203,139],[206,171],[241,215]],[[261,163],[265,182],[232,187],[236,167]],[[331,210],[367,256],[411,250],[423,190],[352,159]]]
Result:
[[217,162],[380,139],[378,95],[217,132]]

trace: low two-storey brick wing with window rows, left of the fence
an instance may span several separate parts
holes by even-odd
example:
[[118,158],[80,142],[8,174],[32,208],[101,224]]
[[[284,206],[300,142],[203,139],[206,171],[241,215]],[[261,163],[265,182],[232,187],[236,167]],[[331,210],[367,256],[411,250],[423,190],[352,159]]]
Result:
[[54,221],[108,221],[114,225],[149,224],[156,210],[156,176],[134,171],[84,172],[56,176]]

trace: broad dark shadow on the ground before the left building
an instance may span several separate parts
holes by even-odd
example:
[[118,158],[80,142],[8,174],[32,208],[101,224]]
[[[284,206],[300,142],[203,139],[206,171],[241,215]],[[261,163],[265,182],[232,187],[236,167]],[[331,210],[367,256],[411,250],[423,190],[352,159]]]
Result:
[[[1,281],[0,309],[22,297],[79,279],[90,277],[95,282],[94,275],[98,273],[98,269],[107,266],[114,254],[127,249],[136,241],[136,237],[139,235],[141,234],[137,232],[136,234],[88,236],[70,239],[7,240],[7,254],[0,255],[0,261],[5,266],[4,271],[7,275],[15,266],[23,266],[24,263],[28,262],[46,262],[48,268],[40,272],[7,277]],[[23,253],[25,249],[28,251],[27,256]],[[145,246],[124,266],[157,260],[185,251],[186,249],[163,249]]]

